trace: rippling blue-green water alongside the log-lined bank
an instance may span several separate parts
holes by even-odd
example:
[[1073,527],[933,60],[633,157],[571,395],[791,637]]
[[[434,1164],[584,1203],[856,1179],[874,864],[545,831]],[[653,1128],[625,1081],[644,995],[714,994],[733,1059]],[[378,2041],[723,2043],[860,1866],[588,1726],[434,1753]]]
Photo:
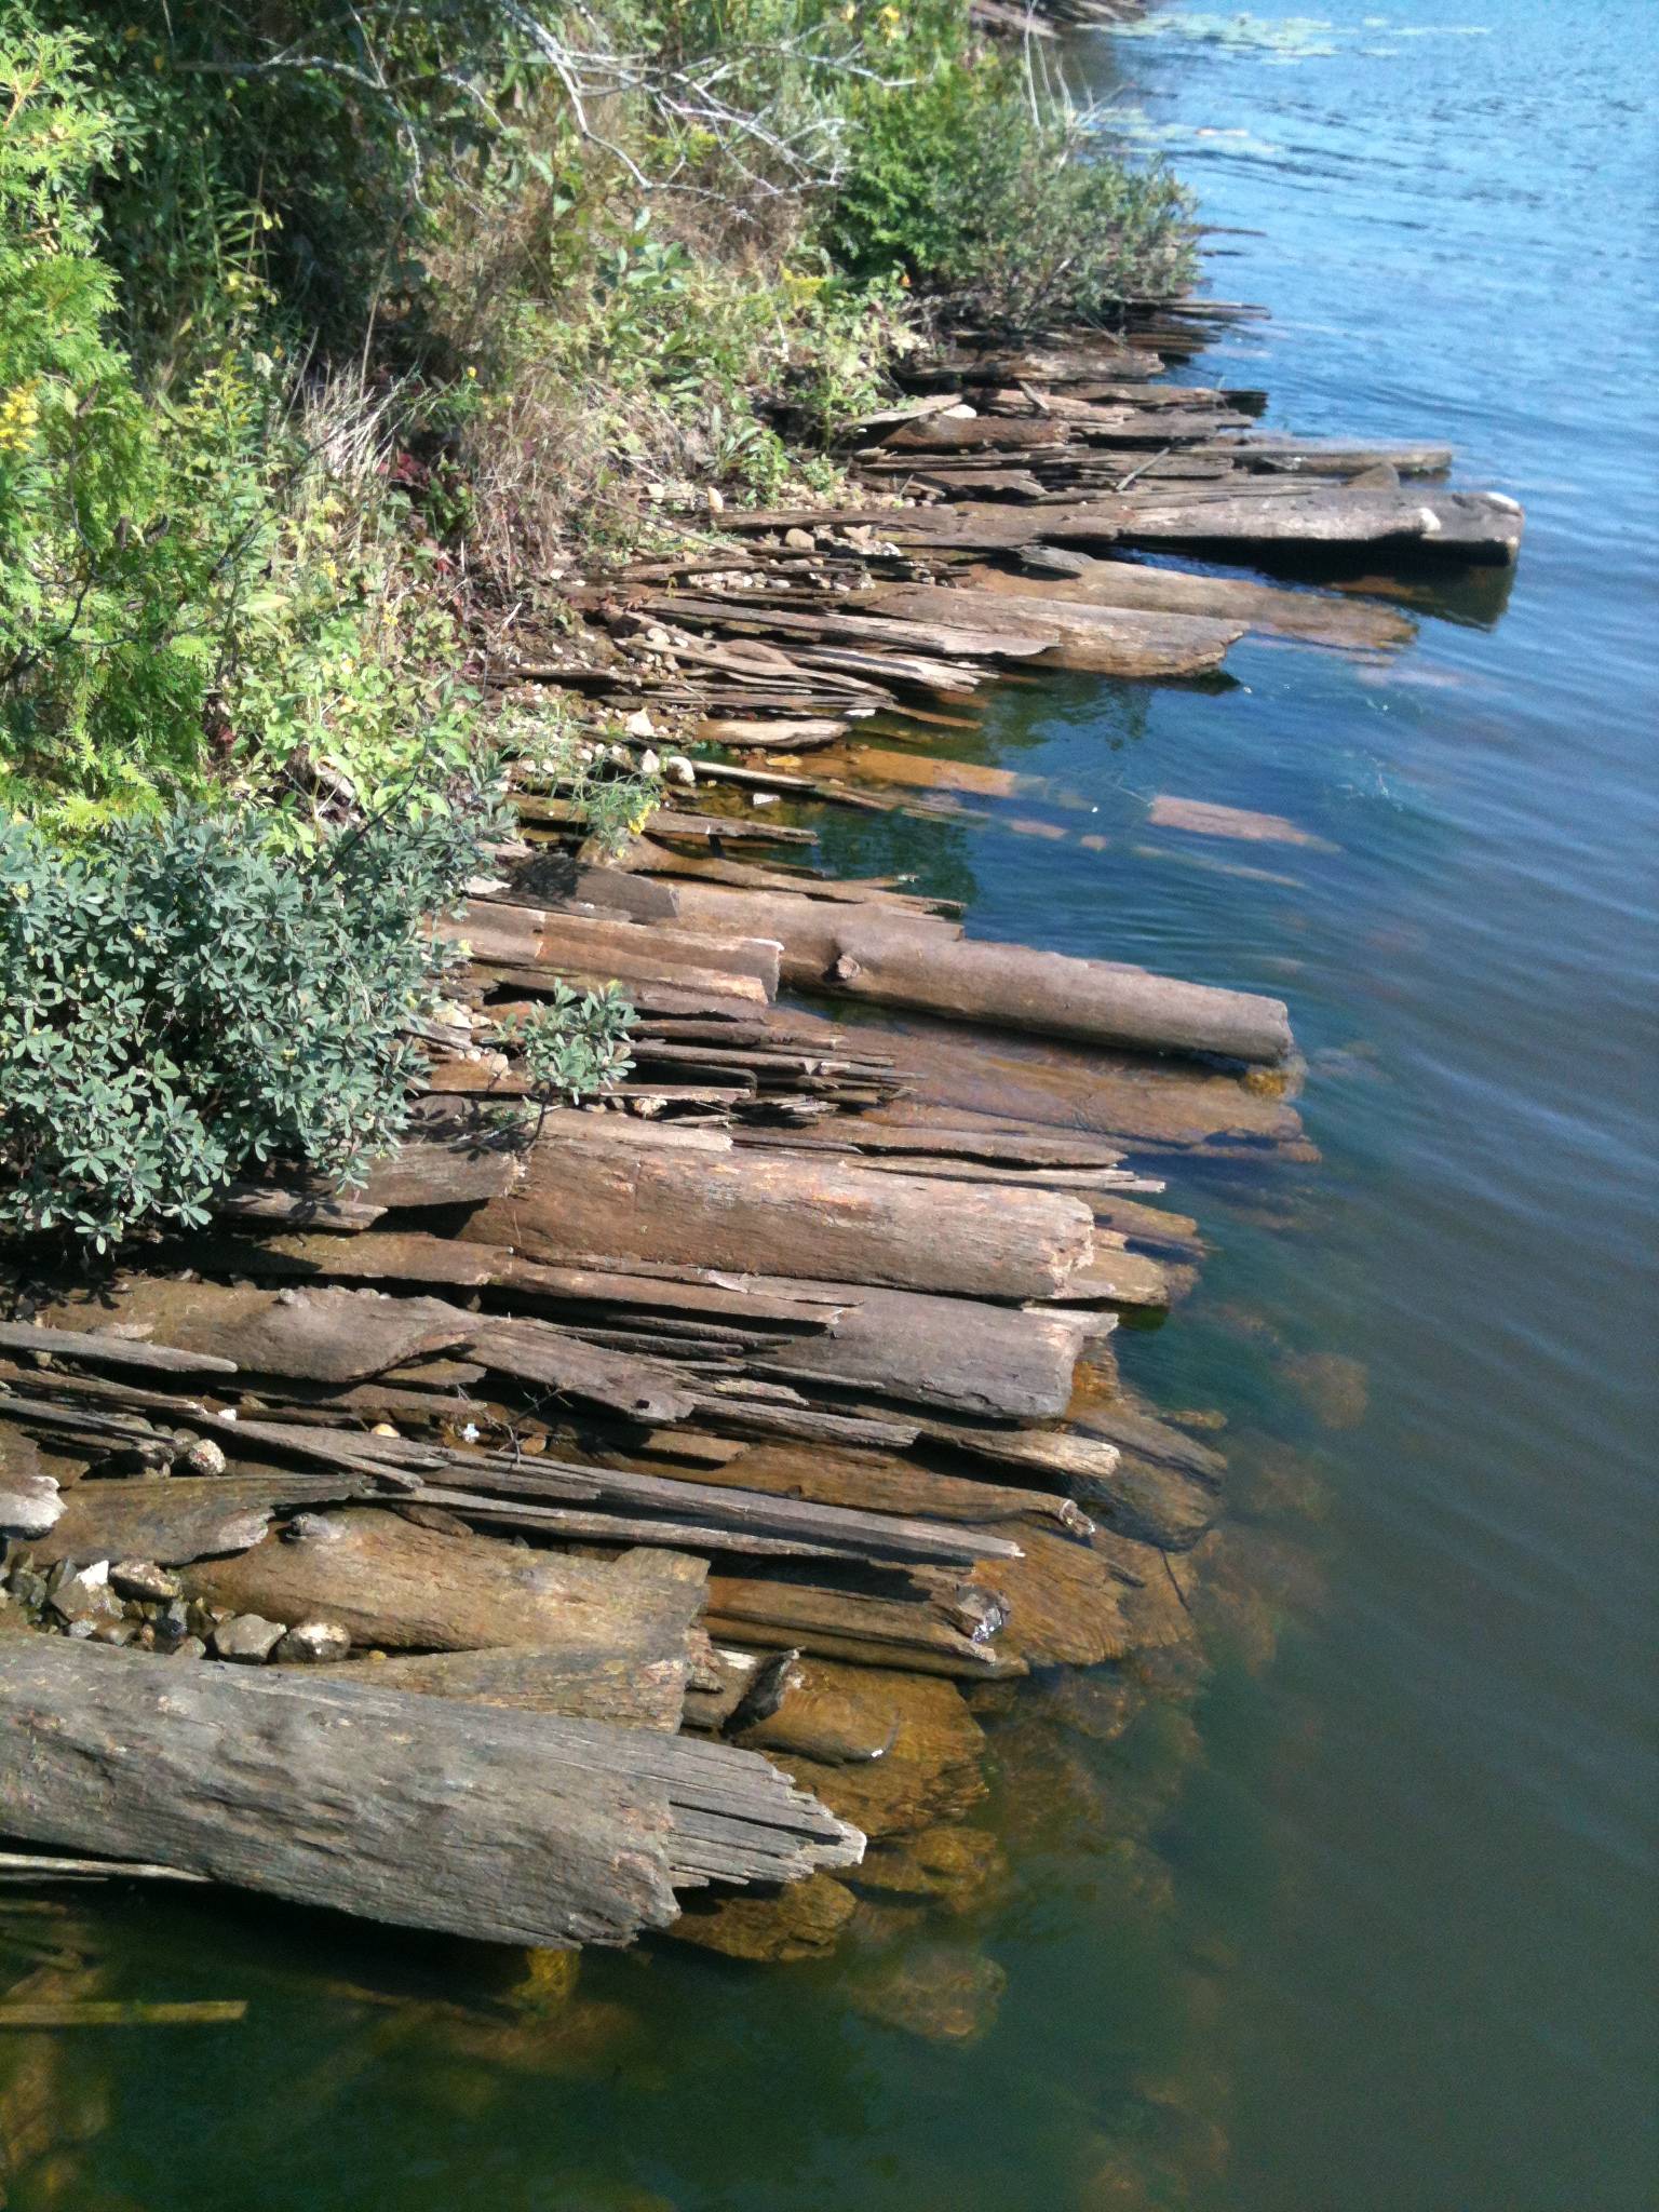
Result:
[[[920,827],[975,933],[1292,1004],[1318,1164],[1179,1166],[1214,1245],[1126,1371],[1217,1407],[1232,1610],[1126,1736],[1004,1725],[1006,1973],[967,2048],[843,1969],[584,1960],[580,2033],[341,1984],[476,1955],[122,1907],[135,1993],[246,2026],[75,2044],[22,2212],[1637,2212],[1652,2137],[1652,0],[1329,0],[1075,55],[1201,195],[1201,374],[1270,422],[1449,436],[1513,584],[1389,661],[1009,686],[958,750],[1095,807]],[[1157,792],[1316,845],[1146,825]],[[832,860],[883,854],[852,832]],[[1040,1699],[1031,1708],[1040,1710]],[[1084,1710],[1086,1721],[1086,1710]],[[1033,1734],[1035,1730],[1035,1734]],[[1042,1754],[1020,1752],[1020,1743]],[[343,1949],[345,1944],[345,1949]]]

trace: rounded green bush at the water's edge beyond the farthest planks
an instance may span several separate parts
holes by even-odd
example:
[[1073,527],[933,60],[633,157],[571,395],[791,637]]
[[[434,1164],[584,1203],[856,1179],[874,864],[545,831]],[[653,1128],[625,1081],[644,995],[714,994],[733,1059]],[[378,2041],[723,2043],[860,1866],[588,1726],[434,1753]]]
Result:
[[1188,201],[1164,170],[1115,157],[949,9],[916,11],[891,51],[911,82],[856,95],[825,215],[847,270],[902,274],[949,312],[1026,330],[1102,321],[1190,276]]

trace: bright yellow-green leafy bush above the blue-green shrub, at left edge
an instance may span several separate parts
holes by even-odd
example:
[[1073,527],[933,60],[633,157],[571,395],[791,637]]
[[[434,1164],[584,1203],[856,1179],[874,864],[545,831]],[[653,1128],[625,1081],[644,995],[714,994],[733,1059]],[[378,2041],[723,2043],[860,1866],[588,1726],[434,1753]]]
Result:
[[290,405],[248,305],[144,392],[111,338],[91,192],[117,131],[82,44],[0,31],[0,805],[84,832],[268,787],[299,748],[372,807],[416,761],[453,770],[476,714],[385,405]]

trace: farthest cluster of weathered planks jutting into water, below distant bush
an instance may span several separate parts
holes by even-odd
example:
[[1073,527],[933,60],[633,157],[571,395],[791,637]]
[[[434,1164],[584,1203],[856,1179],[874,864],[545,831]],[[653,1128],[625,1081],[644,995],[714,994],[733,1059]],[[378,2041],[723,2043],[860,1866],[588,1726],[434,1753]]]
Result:
[[1349,650],[1411,635],[1391,608],[1146,555],[1515,560],[1520,509],[1447,489],[1447,445],[1263,431],[1263,392],[1164,380],[1248,314],[1148,303],[1117,334],[958,338],[856,425],[865,504],[728,513],[681,560],[573,593],[591,657],[522,655],[500,677],[799,750],[898,701],[971,699],[1006,661],[1197,677],[1245,630]]

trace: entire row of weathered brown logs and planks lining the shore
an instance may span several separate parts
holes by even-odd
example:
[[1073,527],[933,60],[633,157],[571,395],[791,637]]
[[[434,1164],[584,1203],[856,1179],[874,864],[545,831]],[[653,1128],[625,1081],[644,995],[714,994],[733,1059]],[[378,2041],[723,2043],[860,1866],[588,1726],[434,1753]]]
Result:
[[[726,515],[580,593],[586,633],[513,677],[723,757],[615,865],[524,779],[363,1192],[272,1172],[108,1283],[29,1274],[0,1325],[0,1874],[131,1860],[500,1942],[814,1955],[987,1880],[953,1825],[987,1683],[1190,1639],[1225,1469],[1110,1332],[1203,1256],[1164,1172],[1307,1157],[1287,1011],[834,883],[807,810],[1029,799],[856,743],[898,701],[960,719],[1004,661],[1139,681],[1245,630],[1409,637],[1124,551],[1513,557],[1509,502],[1420,489],[1440,447],[1270,438],[1259,394],[1157,383],[1208,327],[958,343],[860,427],[867,509]],[[1316,843],[1199,794],[1148,823]],[[504,1018],[611,980],[630,1077],[526,1117]]]

